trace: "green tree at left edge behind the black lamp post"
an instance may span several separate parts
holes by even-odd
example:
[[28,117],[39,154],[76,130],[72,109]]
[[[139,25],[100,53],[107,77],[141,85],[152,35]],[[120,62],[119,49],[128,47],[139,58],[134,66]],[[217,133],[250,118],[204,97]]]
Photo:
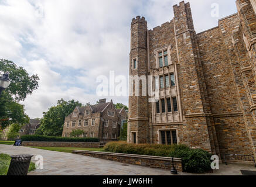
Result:
[[0,59],[0,72],[9,72],[11,79],[11,84],[0,96],[0,129],[12,123],[28,123],[29,117],[19,101],[24,101],[27,95],[38,88],[39,77],[29,76],[25,69],[4,59]]

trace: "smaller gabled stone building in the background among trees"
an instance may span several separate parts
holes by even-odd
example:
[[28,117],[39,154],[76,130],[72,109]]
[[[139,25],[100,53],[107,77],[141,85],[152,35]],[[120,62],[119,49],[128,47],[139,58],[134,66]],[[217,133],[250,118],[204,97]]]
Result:
[[100,141],[114,141],[120,136],[120,124],[122,119],[127,119],[123,109],[115,109],[112,102],[101,99],[97,105],[88,104],[83,108],[75,108],[65,118],[63,137],[70,137],[73,130],[83,130],[81,137],[95,137]]

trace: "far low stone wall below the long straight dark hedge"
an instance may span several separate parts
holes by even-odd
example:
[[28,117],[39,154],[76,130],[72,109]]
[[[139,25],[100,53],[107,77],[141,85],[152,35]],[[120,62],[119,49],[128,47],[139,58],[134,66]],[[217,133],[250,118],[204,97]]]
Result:
[[22,141],[22,146],[98,148],[98,147],[101,147],[101,143],[100,142]]

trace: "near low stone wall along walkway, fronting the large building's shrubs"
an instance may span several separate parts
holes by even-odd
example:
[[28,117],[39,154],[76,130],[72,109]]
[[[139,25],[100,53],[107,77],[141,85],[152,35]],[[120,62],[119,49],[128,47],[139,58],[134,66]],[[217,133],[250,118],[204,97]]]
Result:
[[[112,160],[121,162],[124,164],[141,165],[150,168],[168,169],[172,168],[172,159],[169,157],[155,157],[148,155],[135,155],[135,154],[122,154],[122,153],[107,153],[98,151],[81,151],[73,150],[74,154],[81,154],[89,157],[103,158],[106,160]],[[180,158],[174,158],[174,165],[177,171],[182,172],[182,160]]]

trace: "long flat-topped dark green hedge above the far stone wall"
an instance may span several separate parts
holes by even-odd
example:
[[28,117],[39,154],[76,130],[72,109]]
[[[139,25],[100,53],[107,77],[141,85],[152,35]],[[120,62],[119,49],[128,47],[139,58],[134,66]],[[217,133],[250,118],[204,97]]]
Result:
[[99,142],[98,138],[70,138],[56,136],[24,135],[22,141]]

